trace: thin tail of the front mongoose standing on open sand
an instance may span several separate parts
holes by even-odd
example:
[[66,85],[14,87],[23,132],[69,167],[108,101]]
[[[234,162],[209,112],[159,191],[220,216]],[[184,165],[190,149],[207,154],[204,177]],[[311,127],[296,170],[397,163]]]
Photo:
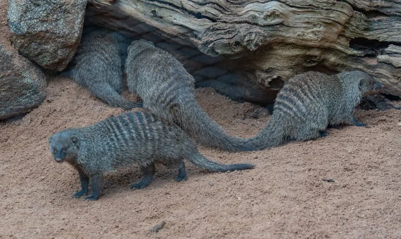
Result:
[[213,162],[198,152],[190,154],[187,157],[190,162],[198,166],[200,169],[209,170],[212,172],[227,172],[255,168],[255,165],[250,163],[221,164],[218,162]]

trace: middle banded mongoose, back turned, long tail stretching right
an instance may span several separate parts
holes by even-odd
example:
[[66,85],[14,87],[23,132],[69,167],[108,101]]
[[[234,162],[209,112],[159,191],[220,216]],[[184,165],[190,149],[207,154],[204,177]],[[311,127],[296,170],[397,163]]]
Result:
[[145,108],[179,125],[202,144],[227,151],[257,150],[248,139],[227,135],[200,108],[193,77],[172,55],[152,42],[131,42],[125,71],[128,90],[142,98]]

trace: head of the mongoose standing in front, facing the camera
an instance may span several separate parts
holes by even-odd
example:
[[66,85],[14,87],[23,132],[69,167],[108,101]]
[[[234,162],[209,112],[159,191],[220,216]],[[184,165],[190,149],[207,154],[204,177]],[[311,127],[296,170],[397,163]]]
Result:
[[79,151],[79,138],[65,132],[49,136],[50,152],[56,162],[70,161]]

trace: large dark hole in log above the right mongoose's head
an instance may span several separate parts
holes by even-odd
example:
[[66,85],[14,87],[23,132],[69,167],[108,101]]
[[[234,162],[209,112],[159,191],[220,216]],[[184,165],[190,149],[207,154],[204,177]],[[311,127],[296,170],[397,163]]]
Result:
[[376,57],[377,55],[379,55],[390,44],[396,43],[388,41],[369,40],[362,37],[354,38],[349,41],[349,46],[352,49],[362,51],[364,53],[364,56],[372,57]]

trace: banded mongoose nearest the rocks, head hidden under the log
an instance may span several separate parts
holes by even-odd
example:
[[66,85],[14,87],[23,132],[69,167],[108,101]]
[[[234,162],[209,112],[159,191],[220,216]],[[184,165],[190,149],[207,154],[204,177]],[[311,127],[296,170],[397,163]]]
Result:
[[142,107],[142,103],[130,102],[120,95],[128,44],[128,39],[117,32],[92,31],[82,37],[71,69],[66,72],[112,107]]

